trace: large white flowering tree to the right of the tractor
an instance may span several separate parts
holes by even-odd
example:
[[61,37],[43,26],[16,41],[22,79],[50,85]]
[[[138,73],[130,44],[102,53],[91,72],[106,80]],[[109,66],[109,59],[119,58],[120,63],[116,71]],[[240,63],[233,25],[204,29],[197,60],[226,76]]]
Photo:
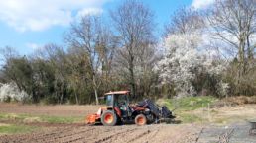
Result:
[[[176,34],[164,39],[164,57],[157,64],[162,84],[171,84],[179,96],[195,95],[193,87],[196,76],[206,72],[219,74],[223,67],[213,65],[213,60],[204,51],[202,38],[199,35]],[[197,78],[197,79],[195,79]]]

